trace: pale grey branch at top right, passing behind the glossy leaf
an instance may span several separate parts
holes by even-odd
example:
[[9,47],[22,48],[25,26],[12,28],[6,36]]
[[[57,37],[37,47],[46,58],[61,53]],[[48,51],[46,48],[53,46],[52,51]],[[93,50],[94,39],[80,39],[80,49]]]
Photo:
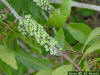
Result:
[[[60,0],[49,0],[51,3],[61,4]],[[100,6],[73,1],[72,7],[86,8],[100,12]]]

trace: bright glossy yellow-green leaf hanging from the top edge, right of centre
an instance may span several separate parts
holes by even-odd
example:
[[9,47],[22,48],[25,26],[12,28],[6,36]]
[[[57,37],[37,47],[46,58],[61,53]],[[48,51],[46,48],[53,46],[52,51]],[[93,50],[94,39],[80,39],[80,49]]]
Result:
[[61,27],[71,12],[72,0],[64,0],[58,9],[55,9],[48,19],[47,25]]

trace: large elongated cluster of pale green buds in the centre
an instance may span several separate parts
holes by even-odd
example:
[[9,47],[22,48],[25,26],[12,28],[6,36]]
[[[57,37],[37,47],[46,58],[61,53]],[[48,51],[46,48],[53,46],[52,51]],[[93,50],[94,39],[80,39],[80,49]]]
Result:
[[36,41],[43,45],[46,51],[50,51],[51,55],[59,54],[61,48],[57,41],[50,37],[43,26],[31,18],[31,15],[26,15],[24,19],[20,19],[18,28],[23,35],[35,37]]

